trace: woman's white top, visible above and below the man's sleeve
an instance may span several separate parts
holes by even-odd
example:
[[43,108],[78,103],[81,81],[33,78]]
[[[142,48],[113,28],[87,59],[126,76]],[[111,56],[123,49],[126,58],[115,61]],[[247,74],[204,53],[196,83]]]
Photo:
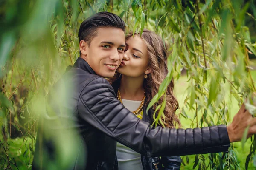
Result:
[[[122,99],[122,103],[130,111],[136,111],[141,101]],[[116,156],[119,170],[143,170],[140,153],[119,142],[116,144]]]

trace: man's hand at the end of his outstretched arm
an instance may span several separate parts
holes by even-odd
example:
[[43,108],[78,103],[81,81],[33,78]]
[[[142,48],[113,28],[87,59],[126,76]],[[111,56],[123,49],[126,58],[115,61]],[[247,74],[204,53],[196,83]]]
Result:
[[232,123],[227,126],[228,137],[231,142],[241,141],[244,130],[249,126],[247,138],[256,133],[256,117],[249,113],[248,110],[245,109],[245,105],[241,105],[238,113],[233,118]]

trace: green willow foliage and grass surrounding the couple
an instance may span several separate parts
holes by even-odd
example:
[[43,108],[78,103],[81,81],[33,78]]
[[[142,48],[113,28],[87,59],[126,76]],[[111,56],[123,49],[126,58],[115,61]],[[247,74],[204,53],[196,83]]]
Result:
[[[1,0],[1,168],[31,167],[45,96],[79,57],[81,22],[99,11],[122,17],[126,33],[148,28],[171,44],[169,74],[151,104],[165,95],[172,77],[184,80],[183,69],[186,91],[176,87],[177,94],[185,92],[179,100],[183,127],[228,124],[234,107],[256,91],[250,66],[256,56],[253,0]],[[241,142],[249,150],[241,163],[241,146],[232,145],[228,153],[184,156],[182,168],[254,168],[251,140]]]

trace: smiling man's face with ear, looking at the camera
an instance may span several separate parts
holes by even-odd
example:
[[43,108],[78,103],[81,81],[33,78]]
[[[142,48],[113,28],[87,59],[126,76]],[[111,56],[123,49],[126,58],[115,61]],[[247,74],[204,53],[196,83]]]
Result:
[[[80,51],[93,71],[101,77],[113,77],[122,62],[125,50],[125,33],[118,28],[98,28],[97,36]],[[82,57],[82,58],[83,58]]]

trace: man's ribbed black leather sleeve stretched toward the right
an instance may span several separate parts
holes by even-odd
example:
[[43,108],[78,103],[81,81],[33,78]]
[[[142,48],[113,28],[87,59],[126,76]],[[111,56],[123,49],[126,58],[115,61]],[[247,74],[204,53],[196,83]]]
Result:
[[148,157],[218,153],[230,146],[225,125],[186,130],[151,128],[116,99],[112,86],[101,77],[81,90],[77,109],[84,122]]

